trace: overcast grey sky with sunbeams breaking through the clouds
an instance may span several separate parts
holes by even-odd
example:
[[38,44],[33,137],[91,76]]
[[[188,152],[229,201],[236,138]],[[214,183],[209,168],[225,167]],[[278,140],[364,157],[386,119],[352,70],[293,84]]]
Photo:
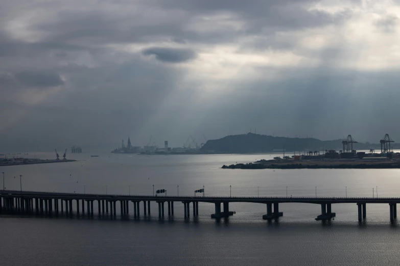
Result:
[[385,0],[0,0],[0,152],[250,128],[400,141],[399,17]]

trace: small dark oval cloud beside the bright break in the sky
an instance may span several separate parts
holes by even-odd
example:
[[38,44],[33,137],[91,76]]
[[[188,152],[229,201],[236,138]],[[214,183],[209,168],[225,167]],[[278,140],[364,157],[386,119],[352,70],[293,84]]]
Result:
[[194,59],[196,53],[189,49],[150,47],[144,49],[142,54],[145,56],[155,56],[158,61],[167,63],[181,63]]

